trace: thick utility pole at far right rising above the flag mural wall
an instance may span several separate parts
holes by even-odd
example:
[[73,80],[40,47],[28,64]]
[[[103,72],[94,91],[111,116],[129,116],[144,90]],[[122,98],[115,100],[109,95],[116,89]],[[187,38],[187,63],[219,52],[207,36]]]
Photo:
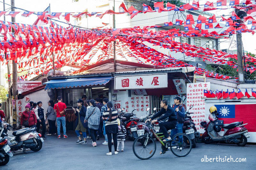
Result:
[[[236,9],[236,15],[240,10]],[[240,17],[242,19],[242,17]],[[244,17],[243,17],[244,18]],[[237,21],[242,22],[241,20]],[[238,65],[238,79],[240,83],[244,82],[244,61],[243,61],[243,45],[242,34],[236,33],[236,48],[237,48],[237,65]]]

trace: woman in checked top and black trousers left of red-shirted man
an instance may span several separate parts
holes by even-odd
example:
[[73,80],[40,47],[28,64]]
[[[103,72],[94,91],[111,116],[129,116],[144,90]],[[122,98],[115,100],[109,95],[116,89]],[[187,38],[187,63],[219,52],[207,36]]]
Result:
[[52,100],[48,101],[48,108],[47,108],[47,112],[46,112],[46,117],[49,123],[49,134],[47,135],[56,135],[56,126],[55,126],[55,122],[56,122],[56,113],[53,110],[54,107],[54,103]]

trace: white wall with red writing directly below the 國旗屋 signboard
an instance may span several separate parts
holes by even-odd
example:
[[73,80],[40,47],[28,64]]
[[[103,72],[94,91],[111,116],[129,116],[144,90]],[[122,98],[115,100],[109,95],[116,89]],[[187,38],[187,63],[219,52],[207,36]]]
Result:
[[141,115],[146,114],[146,108],[150,107],[149,96],[144,95],[136,95],[134,94],[134,90],[131,90],[131,97],[128,97],[128,90],[113,90],[112,94],[117,94],[117,100],[113,100],[114,107],[118,108],[125,108],[125,113],[132,113],[136,114],[138,118]]

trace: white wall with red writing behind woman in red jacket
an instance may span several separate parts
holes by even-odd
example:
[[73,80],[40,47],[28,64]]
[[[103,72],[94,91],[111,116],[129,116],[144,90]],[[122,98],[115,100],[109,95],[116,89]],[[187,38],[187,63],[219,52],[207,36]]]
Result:
[[48,101],[50,100],[50,97],[48,96],[47,92],[44,89],[38,90],[36,92],[29,93],[28,95],[24,96],[23,99],[16,100],[16,110],[17,110],[17,123],[20,124],[20,116],[22,112],[25,111],[25,106],[30,102],[38,102],[42,101],[44,112],[46,113],[48,108]]

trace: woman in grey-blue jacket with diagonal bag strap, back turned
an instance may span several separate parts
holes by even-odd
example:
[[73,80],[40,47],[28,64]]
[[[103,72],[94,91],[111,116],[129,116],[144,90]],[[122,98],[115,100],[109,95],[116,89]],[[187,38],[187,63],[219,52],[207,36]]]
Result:
[[97,146],[96,137],[97,130],[100,125],[100,109],[96,107],[96,103],[94,99],[90,100],[90,107],[86,110],[86,117],[84,119],[84,123],[88,121],[88,128],[90,129],[91,137],[92,137],[92,146]]

